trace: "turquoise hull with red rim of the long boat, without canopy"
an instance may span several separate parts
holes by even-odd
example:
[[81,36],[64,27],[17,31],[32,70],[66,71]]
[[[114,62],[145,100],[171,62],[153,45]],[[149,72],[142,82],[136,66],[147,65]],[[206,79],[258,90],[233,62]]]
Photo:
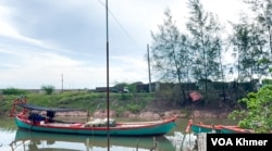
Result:
[[109,131],[111,136],[160,136],[168,134],[175,127],[175,119],[171,118],[161,123],[149,123],[146,125],[139,123],[139,126],[127,124],[122,127],[109,127],[109,130],[108,127],[84,127],[82,124],[63,124],[62,126],[32,124],[28,119],[20,118],[18,116],[15,117],[15,124],[18,128],[46,133],[107,136]]

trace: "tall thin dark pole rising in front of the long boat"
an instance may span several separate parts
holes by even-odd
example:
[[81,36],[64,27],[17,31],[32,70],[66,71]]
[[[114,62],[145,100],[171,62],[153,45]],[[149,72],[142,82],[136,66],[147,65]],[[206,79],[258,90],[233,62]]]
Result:
[[108,151],[110,151],[110,88],[109,88],[109,26],[108,26],[108,0],[106,0],[106,30],[107,30],[107,138]]

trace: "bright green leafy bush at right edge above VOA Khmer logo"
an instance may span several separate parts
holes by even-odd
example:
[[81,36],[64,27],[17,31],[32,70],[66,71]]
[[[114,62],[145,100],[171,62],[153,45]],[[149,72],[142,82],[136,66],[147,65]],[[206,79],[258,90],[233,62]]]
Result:
[[272,86],[262,87],[258,92],[250,92],[238,101],[246,108],[233,111],[228,117],[242,117],[238,125],[257,133],[269,133],[272,129]]

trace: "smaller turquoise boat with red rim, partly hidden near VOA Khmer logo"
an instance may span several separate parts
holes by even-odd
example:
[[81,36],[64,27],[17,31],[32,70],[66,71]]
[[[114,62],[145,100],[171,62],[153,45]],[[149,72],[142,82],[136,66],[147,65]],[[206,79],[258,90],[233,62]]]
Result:
[[207,133],[207,134],[222,134],[222,128],[236,128],[238,126],[236,125],[213,125],[213,124],[203,124],[202,122],[200,123],[193,123],[190,119],[188,122],[188,126],[186,128],[186,133],[191,130],[194,134],[200,134],[200,133]]

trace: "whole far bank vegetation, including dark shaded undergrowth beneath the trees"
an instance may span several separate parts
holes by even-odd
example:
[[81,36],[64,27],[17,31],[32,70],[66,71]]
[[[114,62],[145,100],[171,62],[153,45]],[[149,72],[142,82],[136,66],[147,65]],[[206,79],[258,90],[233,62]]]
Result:
[[[165,110],[222,110],[232,111],[237,104],[237,100],[246,97],[247,91],[252,91],[254,88],[249,87],[249,84],[239,84],[236,87],[234,83],[225,83],[225,96],[222,96],[221,83],[210,83],[208,96],[205,95],[205,89],[201,89],[196,84],[189,84],[191,86],[189,90],[185,90],[186,97],[183,98],[183,92],[176,84],[165,83],[159,84],[160,89],[149,92],[137,92],[136,83],[123,84],[123,87],[127,87],[129,92],[110,92],[110,108],[121,115],[124,111],[131,111],[132,113],[139,113],[141,111],[165,111]],[[141,85],[141,84],[140,84]],[[120,84],[118,85],[120,86]],[[185,85],[186,86],[186,85]],[[250,85],[251,86],[251,85]],[[187,86],[186,86],[187,87]],[[199,88],[198,88],[199,87]],[[116,89],[123,89],[114,87]],[[250,88],[250,89],[249,89]],[[198,91],[202,98],[199,101],[190,101],[189,92]],[[12,91],[12,92],[7,92]],[[22,92],[22,93],[20,93]],[[96,92],[87,89],[62,92],[54,91],[51,95],[40,93],[40,90],[21,90],[11,88],[3,89],[0,95],[0,114],[9,113],[12,101],[21,96],[25,96],[29,103],[34,103],[42,106],[53,108],[79,108],[86,109],[90,112],[96,110],[107,109],[107,96],[106,92]],[[206,100],[206,101],[202,101]]]

